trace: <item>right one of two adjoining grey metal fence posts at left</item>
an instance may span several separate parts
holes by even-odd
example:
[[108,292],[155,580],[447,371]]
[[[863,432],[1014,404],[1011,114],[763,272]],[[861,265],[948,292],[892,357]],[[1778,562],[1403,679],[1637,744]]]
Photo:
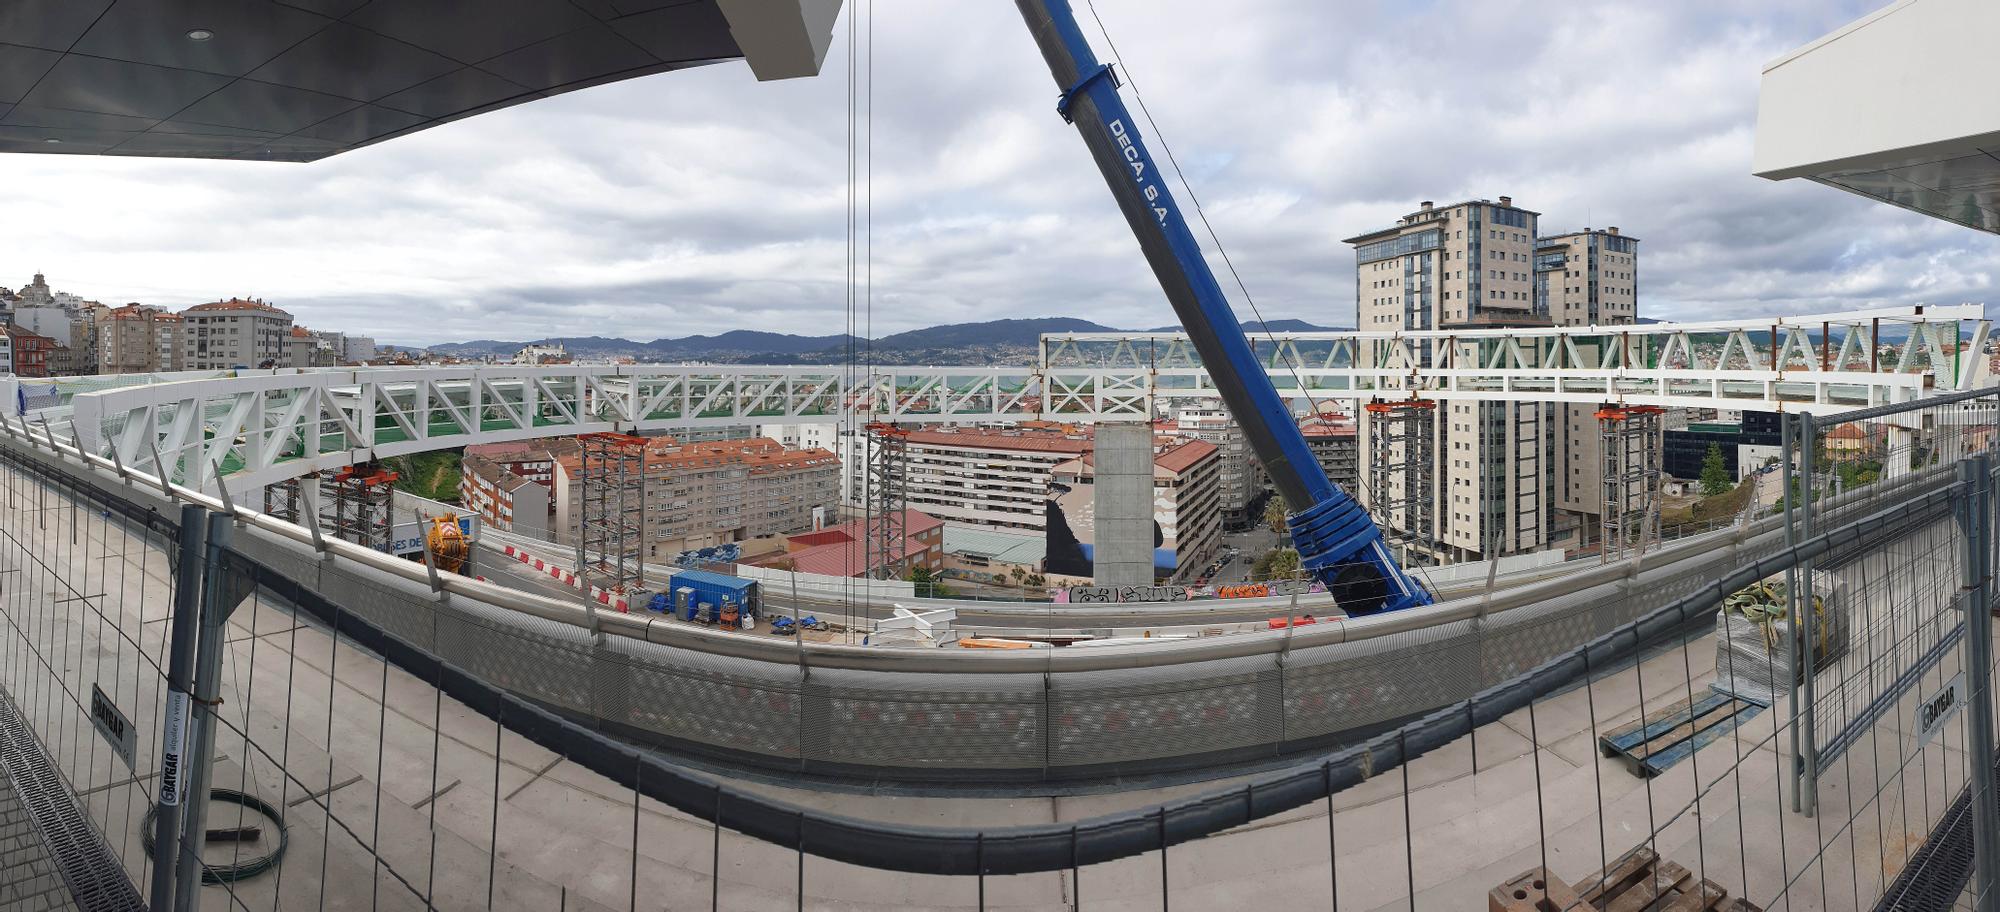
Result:
[[208,774],[216,754],[216,696],[222,690],[222,640],[236,604],[224,598],[222,548],[230,542],[230,514],[208,516],[208,560],[202,564],[202,634],[194,654],[194,746],[188,750],[186,810],[180,814],[180,860],[174,872],[174,910],[192,912],[202,886],[202,848],[208,842]]

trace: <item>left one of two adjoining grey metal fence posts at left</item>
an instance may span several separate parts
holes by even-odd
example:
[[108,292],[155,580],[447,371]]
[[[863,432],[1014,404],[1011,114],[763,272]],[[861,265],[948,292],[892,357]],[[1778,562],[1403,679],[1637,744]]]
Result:
[[186,774],[188,694],[194,692],[194,636],[202,600],[202,544],[206,514],[194,504],[180,506],[180,564],[174,576],[174,622],[168,632],[166,724],[160,726],[160,788],[152,822],[152,892],[148,906],[172,908],[174,866],[180,846],[182,776]]

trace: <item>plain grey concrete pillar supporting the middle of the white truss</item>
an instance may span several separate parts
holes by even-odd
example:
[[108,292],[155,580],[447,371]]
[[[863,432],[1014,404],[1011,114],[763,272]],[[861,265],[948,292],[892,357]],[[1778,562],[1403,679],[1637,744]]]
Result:
[[1152,424],[1098,422],[1094,444],[1098,586],[1152,584]]

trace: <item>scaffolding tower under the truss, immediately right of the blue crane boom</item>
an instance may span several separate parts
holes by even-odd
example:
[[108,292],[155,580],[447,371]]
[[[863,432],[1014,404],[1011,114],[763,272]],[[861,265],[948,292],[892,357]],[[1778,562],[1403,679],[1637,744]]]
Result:
[[1434,556],[1438,546],[1436,442],[1438,404],[1432,400],[1368,402],[1368,512],[1384,538]]

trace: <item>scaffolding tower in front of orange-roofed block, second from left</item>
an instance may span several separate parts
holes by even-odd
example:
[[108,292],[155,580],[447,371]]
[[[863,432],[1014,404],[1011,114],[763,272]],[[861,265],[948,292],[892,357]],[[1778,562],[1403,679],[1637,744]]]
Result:
[[646,580],[646,438],[582,434],[576,572],[586,586],[636,592]]

